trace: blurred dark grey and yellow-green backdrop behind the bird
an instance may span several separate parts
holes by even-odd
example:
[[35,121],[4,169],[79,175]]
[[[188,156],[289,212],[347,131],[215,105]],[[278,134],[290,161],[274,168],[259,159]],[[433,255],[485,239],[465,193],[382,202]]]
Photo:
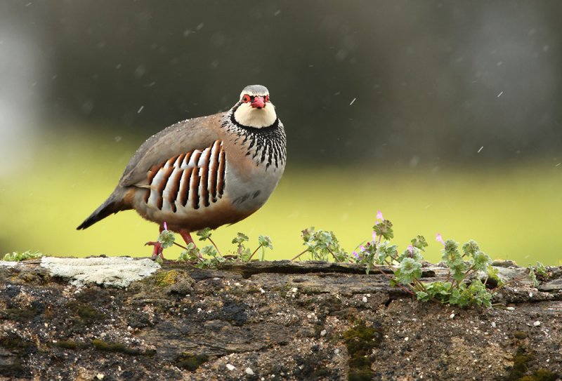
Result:
[[[285,176],[236,232],[268,259],[300,231],[351,251],[377,210],[404,248],[475,239],[492,258],[560,265],[559,1],[3,1],[0,254],[150,254],[133,211],[75,227],[145,138],[268,86]],[[180,250],[169,249],[167,258]]]

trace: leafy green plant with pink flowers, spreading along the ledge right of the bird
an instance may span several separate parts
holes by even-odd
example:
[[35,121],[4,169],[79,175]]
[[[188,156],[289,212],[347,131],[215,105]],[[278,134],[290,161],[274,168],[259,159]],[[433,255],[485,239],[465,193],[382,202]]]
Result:
[[[488,278],[497,278],[497,272],[490,265],[490,258],[475,241],[466,242],[461,249],[459,244],[451,239],[443,241],[437,234],[437,241],[443,244],[443,262],[449,270],[445,281],[422,281],[425,248],[428,246],[424,236],[416,236],[402,252],[398,253],[398,246],[391,243],[393,239],[392,222],[386,220],[382,213],[377,213],[377,222],[373,226],[372,240],[358,246],[351,255],[346,255],[339,248],[339,243],[332,232],[314,229],[303,231],[303,241],[306,250],[313,259],[326,260],[327,253],[332,254],[336,262],[351,261],[365,265],[367,274],[377,269],[391,280],[391,284],[405,290],[418,300],[459,305],[483,305],[490,307],[493,290],[485,287],[486,281],[481,281],[478,274]],[[462,250],[462,251],[461,251]],[[299,254],[296,258],[298,258]],[[394,275],[388,275],[380,267],[388,266]],[[499,281],[499,279],[498,279]]]

